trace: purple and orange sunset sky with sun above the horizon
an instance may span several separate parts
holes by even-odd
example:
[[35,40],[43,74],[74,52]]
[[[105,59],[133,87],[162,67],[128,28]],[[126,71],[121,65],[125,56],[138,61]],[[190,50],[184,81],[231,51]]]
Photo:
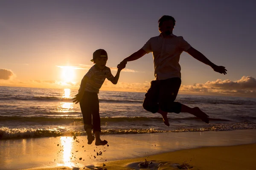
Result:
[[[175,35],[228,70],[218,74],[183,52],[180,93],[256,97],[255,8],[254,0],[0,0],[0,85],[79,88],[99,48],[115,76],[122,59],[159,35],[157,20],[171,15]],[[102,90],[145,92],[152,54],[126,68]]]

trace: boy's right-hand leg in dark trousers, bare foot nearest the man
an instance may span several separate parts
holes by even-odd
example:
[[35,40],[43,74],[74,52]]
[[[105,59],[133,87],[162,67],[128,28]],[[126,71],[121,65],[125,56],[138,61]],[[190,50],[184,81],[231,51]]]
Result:
[[95,135],[95,145],[105,145],[108,142],[106,140],[100,139],[100,116],[99,116],[99,99],[98,94],[93,94],[93,98],[91,100],[91,107],[92,107],[92,115],[93,115],[93,133]]

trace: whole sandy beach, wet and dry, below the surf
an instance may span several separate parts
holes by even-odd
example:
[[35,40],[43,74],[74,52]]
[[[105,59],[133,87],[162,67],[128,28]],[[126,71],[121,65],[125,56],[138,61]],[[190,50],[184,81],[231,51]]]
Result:
[[2,140],[0,169],[256,170],[256,130],[104,135],[100,147],[86,137]]

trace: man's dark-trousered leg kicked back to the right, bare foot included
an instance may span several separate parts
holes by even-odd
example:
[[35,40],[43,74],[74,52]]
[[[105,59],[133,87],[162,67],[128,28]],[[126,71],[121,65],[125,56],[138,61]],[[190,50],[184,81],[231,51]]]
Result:
[[160,80],[160,92],[159,92],[159,107],[162,111],[169,113],[180,113],[186,112],[191,113],[202,121],[209,123],[207,114],[202,112],[198,107],[189,108],[186,105],[183,105],[179,102],[174,102],[179,88],[181,80],[180,78],[171,78],[166,80]]

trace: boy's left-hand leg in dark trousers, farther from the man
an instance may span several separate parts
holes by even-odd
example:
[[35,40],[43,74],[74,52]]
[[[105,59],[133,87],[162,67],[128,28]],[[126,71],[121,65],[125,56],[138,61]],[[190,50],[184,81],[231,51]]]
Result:
[[89,92],[84,92],[84,96],[82,100],[79,102],[81,112],[83,115],[83,120],[84,120],[84,130],[87,133],[87,139],[88,139],[88,144],[91,144],[94,140],[94,136],[92,135],[92,110],[90,107],[90,93]]

